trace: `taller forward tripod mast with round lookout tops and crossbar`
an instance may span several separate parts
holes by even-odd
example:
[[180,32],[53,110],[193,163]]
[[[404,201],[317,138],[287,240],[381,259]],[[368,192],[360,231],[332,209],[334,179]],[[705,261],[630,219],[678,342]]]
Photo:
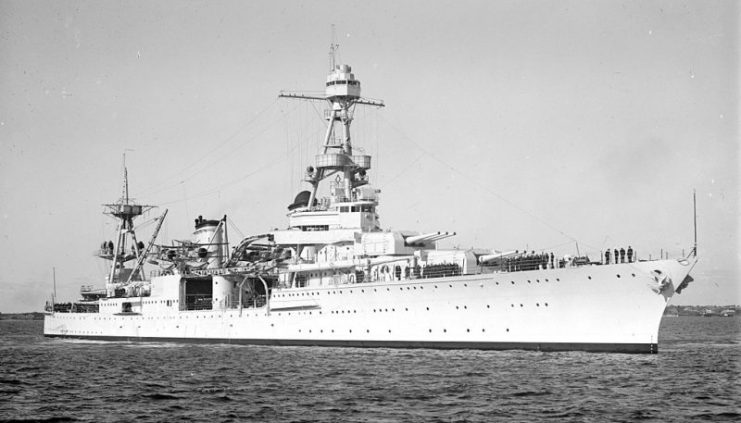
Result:
[[[279,95],[283,98],[325,100],[330,106],[324,112],[327,131],[324,136],[322,154],[316,157],[316,167],[309,166],[306,171],[306,181],[312,185],[311,195],[306,203],[307,209],[314,207],[319,183],[331,175],[342,175],[342,178],[338,178],[330,187],[332,196],[339,200],[350,201],[353,188],[368,183],[365,171],[370,169],[370,156],[353,155],[350,124],[356,105],[384,107],[382,101],[365,99],[360,96],[360,81],[355,79],[349,65],[335,64],[335,53],[338,47],[338,44],[332,40],[329,47],[331,68],[327,76],[324,97],[284,92]],[[337,126],[341,127],[340,131],[336,130]]]

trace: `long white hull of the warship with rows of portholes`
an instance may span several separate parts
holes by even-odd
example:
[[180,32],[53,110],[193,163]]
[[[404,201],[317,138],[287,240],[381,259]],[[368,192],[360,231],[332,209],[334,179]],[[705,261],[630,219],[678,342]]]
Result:
[[[99,313],[45,316],[44,335],[276,345],[655,353],[661,316],[687,260],[274,289],[268,307],[183,311],[143,297]],[[670,283],[659,289],[651,274]],[[618,276],[619,275],[619,276]],[[177,278],[177,276],[169,276]],[[138,300],[138,298],[137,298]],[[112,307],[111,307],[112,306]]]

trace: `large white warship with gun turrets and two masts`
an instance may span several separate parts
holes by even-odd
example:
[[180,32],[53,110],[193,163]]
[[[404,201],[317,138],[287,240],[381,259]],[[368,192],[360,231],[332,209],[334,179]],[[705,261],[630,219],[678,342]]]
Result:
[[[129,197],[106,204],[115,241],[105,288],[47,303],[44,335],[118,341],[265,345],[531,349],[656,353],[661,316],[692,281],[690,255],[646,260],[483,248],[444,249],[454,232],[384,229],[371,156],[353,150],[361,97],[348,65],[334,63],[323,96],[321,151],[308,184],[288,205],[284,229],[230,246],[227,216],[195,220],[188,240],[158,244],[167,210],[148,242],[134,220],[151,211]],[[322,191],[320,191],[322,188]],[[325,194],[321,194],[325,193]],[[155,266],[145,272],[144,266]]]

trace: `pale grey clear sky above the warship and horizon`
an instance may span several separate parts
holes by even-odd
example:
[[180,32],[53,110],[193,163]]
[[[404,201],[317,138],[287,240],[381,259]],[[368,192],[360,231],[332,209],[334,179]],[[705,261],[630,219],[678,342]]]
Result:
[[[337,60],[363,95],[391,229],[443,247],[699,262],[674,304],[741,304],[739,4],[734,1],[0,0],[0,312],[103,286],[102,204],[156,205],[148,239],[228,215],[287,225]],[[151,270],[151,267],[149,268]]]

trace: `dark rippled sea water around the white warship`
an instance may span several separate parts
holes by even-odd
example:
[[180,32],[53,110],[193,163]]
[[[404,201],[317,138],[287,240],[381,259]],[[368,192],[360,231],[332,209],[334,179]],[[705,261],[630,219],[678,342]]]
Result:
[[0,321],[0,420],[740,420],[741,317],[665,317],[659,354],[47,339]]

